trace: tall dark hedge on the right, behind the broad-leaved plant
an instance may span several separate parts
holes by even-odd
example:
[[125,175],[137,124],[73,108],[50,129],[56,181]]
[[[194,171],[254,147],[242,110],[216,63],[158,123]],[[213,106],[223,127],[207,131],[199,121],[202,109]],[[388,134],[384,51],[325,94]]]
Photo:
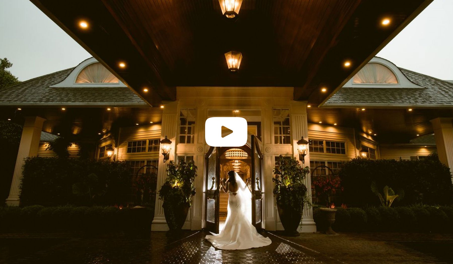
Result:
[[386,185],[395,192],[404,190],[404,198],[394,206],[453,204],[450,170],[435,154],[424,160],[353,159],[342,164],[339,176],[342,201],[350,207],[380,206],[379,198],[371,192],[372,182],[379,190]]

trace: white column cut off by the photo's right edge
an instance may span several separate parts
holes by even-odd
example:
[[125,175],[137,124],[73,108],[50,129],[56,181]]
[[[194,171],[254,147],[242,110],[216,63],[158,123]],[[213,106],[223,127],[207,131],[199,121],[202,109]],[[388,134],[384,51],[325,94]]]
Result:
[[[431,120],[440,162],[453,169],[453,125],[452,118],[434,118]],[[453,181],[453,179],[452,179]]]

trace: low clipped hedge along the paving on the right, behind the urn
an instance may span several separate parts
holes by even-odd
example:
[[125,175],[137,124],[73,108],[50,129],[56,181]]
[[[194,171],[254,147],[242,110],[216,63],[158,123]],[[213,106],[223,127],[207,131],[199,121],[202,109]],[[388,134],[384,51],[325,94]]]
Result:
[[[313,210],[313,219],[323,231],[322,214]],[[453,232],[453,207],[415,205],[411,207],[337,208],[334,231]]]

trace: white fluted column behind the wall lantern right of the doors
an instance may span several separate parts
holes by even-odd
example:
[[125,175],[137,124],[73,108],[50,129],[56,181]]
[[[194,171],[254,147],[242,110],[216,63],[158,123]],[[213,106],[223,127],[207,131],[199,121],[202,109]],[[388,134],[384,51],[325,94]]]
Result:
[[[304,136],[308,139],[308,122],[307,122],[307,102],[292,101],[289,107],[289,122],[291,129],[291,137],[293,143],[293,155],[299,160],[299,152],[297,151],[297,141]],[[302,167],[310,166],[309,153],[305,156],[305,163],[300,165]],[[311,197],[311,176],[310,174],[304,180],[307,186],[308,196]],[[313,221],[313,210],[307,205],[304,206],[304,213],[302,215],[302,228],[299,227],[299,232],[316,232],[316,224]]]

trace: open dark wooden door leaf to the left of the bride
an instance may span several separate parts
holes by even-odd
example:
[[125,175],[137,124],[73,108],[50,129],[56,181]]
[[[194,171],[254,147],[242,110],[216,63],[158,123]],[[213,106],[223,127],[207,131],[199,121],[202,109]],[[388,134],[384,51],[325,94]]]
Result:
[[219,233],[219,189],[220,158],[219,148],[211,147],[205,155],[205,228]]

